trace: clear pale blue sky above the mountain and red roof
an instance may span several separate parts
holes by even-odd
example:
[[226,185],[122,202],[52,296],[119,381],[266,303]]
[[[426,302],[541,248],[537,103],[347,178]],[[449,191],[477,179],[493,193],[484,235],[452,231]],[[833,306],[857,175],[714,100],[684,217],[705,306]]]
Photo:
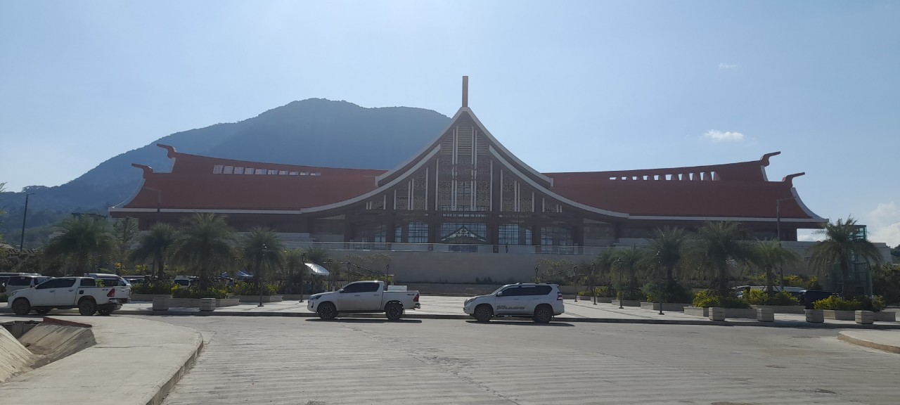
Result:
[[[900,244],[900,3],[0,2],[0,182],[57,185],[293,100],[470,106],[539,171],[776,150]],[[437,134],[436,134],[437,135]],[[773,207],[774,211],[774,207]]]

